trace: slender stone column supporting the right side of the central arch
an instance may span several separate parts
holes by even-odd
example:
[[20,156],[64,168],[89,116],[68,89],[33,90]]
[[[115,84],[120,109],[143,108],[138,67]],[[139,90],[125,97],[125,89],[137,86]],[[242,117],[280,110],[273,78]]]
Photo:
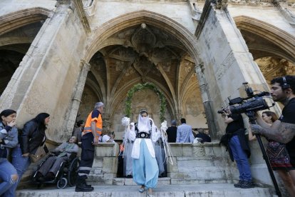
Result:
[[200,63],[197,66],[195,66],[195,71],[197,74],[197,79],[199,81],[199,86],[200,86],[200,91],[201,91],[201,96],[202,96],[202,102],[205,108],[205,113],[206,113],[206,119],[207,119],[207,124],[209,128],[209,134],[212,139],[215,139],[217,137],[217,128],[216,128],[216,122],[214,121],[214,116],[212,113],[212,101],[209,95],[209,89],[207,86],[207,81],[204,77],[204,74],[202,72],[202,68],[204,68],[204,63]]

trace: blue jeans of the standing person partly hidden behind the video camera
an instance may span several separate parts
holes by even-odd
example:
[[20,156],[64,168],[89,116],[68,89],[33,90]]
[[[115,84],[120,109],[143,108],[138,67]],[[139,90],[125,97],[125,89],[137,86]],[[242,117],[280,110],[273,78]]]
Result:
[[247,153],[245,153],[245,151],[242,149],[238,136],[233,136],[230,139],[229,147],[232,150],[232,155],[234,156],[234,160],[237,163],[237,168],[239,170],[239,180],[252,181]]

